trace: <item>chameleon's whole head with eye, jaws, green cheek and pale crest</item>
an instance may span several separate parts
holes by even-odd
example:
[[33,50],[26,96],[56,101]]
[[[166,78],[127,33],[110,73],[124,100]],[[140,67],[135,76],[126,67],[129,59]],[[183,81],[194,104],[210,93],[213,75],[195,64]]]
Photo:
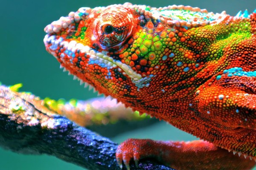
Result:
[[195,32],[186,31],[226,16],[190,6],[79,8],[46,26],[44,44],[62,67],[99,93],[152,111],[172,96],[173,88],[191,85],[186,74],[200,68],[191,49],[201,50],[205,43],[193,47],[187,39]]

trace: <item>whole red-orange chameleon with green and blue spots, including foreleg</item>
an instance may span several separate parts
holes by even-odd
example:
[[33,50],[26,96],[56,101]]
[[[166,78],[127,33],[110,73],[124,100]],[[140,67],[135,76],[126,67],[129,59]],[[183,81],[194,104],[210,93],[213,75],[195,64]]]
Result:
[[145,157],[182,170],[255,165],[256,11],[125,3],[79,8],[44,30],[47,51],[85,86],[204,139],[128,139],[121,168]]

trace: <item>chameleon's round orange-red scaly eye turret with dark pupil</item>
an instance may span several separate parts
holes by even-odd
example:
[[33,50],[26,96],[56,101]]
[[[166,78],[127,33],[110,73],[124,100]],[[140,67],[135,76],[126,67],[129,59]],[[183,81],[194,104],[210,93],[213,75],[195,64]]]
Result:
[[99,48],[119,48],[136,31],[138,16],[125,8],[106,8],[93,21],[93,43]]

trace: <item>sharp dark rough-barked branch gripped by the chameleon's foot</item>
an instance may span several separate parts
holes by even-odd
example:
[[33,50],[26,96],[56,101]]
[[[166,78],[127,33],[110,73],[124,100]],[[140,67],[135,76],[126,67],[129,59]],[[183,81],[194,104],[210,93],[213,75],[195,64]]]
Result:
[[[48,154],[90,170],[120,170],[117,144],[44,107],[38,97],[0,86],[0,145],[23,154]],[[123,168],[125,169],[125,168]],[[141,160],[131,170],[172,170]]]

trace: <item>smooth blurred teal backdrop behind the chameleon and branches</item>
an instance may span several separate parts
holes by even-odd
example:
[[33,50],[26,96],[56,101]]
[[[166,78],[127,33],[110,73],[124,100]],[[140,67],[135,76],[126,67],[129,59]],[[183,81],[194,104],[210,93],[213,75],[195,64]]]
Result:
[[[13,0],[0,3],[0,82],[5,85],[23,83],[22,91],[31,91],[42,98],[88,99],[95,97],[59,69],[59,64],[45,51],[44,27],[78,8],[108,6],[125,0]],[[239,10],[256,8],[256,0],[130,0],[134,4],[153,7],[189,5],[236,15]],[[128,138],[157,140],[193,140],[195,137],[181,132],[165,122],[123,133],[112,138],[122,142]],[[83,170],[76,165],[52,156],[31,156],[0,149],[0,170]],[[256,169],[255,169],[256,170]]]

